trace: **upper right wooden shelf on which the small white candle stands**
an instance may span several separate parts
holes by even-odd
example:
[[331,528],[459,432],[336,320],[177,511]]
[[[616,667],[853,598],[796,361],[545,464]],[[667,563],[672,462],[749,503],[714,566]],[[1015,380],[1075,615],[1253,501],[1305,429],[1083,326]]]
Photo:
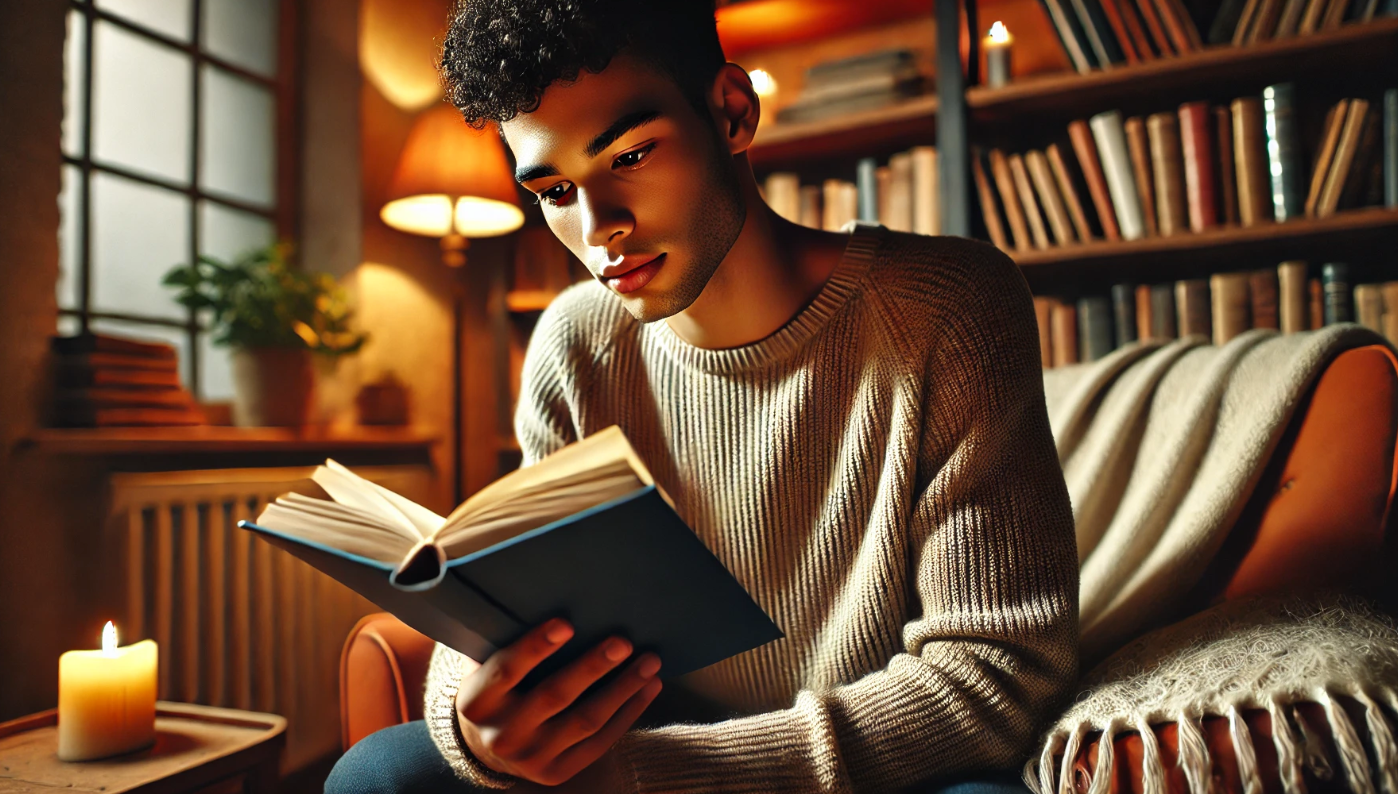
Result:
[[1216,46],[1180,57],[1118,66],[1088,74],[1028,77],[1002,88],[966,91],[980,124],[1026,117],[1072,119],[1102,110],[1159,110],[1191,99],[1229,99],[1289,75],[1359,74],[1384,80],[1398,67],[1398,18],[1346,25],[1309,36],[1246,48]]

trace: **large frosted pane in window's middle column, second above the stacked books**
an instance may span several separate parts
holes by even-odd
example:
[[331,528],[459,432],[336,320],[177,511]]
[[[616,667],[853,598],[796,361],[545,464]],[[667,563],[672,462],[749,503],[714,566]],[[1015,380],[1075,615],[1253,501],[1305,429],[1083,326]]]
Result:
[[94,43],[94,157],[189,182],[189,56],[102,21]]

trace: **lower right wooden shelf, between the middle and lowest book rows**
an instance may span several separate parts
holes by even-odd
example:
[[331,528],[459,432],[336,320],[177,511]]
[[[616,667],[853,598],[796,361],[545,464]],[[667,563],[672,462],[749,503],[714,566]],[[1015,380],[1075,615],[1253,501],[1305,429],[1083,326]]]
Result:
[[1398,210],[1369,207],[1328,218],[1285,224],[1229,226],[1169,238],[1131,242],[1092,242],[1046,250],[1011,252],[1030,287],[1053,287],[1079,278],[1166,281],[1250,263],[1283,259],[1343,259],[1381,243],[1398,245]]

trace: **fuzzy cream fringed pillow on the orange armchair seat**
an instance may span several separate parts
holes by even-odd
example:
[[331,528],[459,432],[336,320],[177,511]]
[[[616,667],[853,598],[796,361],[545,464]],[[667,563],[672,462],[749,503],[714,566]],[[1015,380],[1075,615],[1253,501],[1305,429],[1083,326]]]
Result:
[[[1072,767],[1099,732],[1088,794],[1106,794],[1114,774],[1113,738],[1137,731],[1144,742],[1141,790],[1165,794],[1166,772],[1151,726],[1174,723],[1179,765],[1190,794],[1209,794],[1211,759],[1199,723],[1229,720],[1243,790],[1261,793],[1257,751],[1240,714],[1272,717],[1278,770],[1286,794],[1304,794],[1303,769],[1323,766],[1314,731],[1295,706],[1318,703],[1329,723],[1349,788],[1398,794],[1398,626],[1343,596],[1229,601],[1123,647],[1083,679],[1086,688],[1025,766],[1036,794],[1072,794]],[[1364,709],[1369,741],[1335,698]],[[1378,787],[1376,788],[1376,783]]]

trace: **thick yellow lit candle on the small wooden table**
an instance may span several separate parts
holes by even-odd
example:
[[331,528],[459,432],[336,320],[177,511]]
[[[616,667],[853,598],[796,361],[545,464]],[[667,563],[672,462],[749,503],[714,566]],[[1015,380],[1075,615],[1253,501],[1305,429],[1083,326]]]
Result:
[[155,744],[154,640],[116,647],[116,626],[102,629],[102,650],[59,657],[59,759],[88,760]]

